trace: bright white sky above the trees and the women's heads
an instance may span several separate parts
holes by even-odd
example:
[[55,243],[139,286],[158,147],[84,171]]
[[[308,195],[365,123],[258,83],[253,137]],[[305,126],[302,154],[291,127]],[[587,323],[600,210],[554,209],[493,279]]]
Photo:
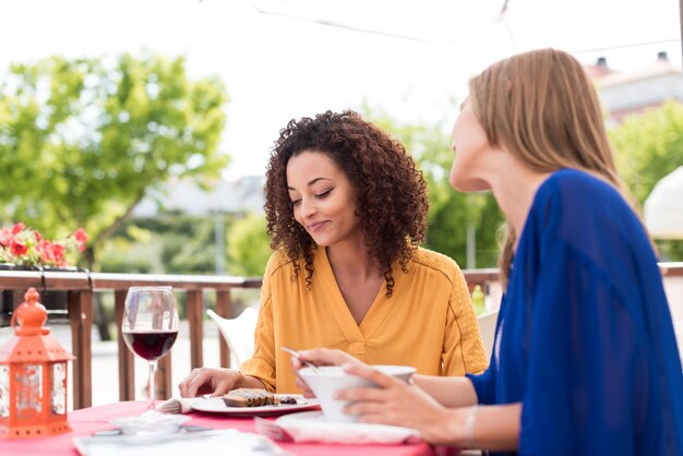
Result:
[[[0,69],[50,55],[142,49],[183,55],[192,75],[219,74],[231,103],[221,149],[230,177],[262,173],[291,118],[363,99],[407,121],[450,123],[452,97],[493,61],[553,46],[618,70],[659,50],[680,63],[676,0],[0,0]],[[261,12],[259,10],[262,10]],[[266,13],[264,13],[264,11]],[[352,28],[321,25],[322,17]],[[652,43],[654,41],[654,43]],[[649,45],[627,46],[652,43]]]

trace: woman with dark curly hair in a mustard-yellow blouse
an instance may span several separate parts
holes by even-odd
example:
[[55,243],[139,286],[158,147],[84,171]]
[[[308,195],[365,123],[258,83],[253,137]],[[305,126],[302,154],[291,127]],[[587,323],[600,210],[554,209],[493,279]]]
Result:
[[240,372],[195,369],[183,396],[298,392],[280,347],[338,348],[431,375],[487,368],[460,269],[418,247],[427,185],[399,142],[352,111],[291,120],[275,143],[265,197],[275,253],[253,358]]

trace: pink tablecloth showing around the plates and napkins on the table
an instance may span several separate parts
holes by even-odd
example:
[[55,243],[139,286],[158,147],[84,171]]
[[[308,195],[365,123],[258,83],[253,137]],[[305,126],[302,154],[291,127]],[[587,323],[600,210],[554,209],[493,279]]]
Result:
[[[31,456],[77,456],[72,439],[77,435],[91,435],[94,432],[111,429],[109,422],[113,418],[142,413],[146,403],[128,401],[109,404],[75,410],[69,413],[69,423],[73,432],[37,439],[0,440],[0,455],[31,455]],[[214,429],[233,428],[244,432],[255,432],[252,418],[232,418],[225,415],[194,412],[189,425],[202,425]],[[348,455],[355,456],[433,456],[446,454],[445,448],[435,451],[426,443],[404,445],[331,445],[310,443],[279,443],[284,449],[295,455]]]

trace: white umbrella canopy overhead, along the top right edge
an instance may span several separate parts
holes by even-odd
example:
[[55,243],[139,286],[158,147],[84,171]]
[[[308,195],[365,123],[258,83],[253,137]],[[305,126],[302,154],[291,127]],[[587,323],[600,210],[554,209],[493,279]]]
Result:
[[[683,3],[683,0],[679,0]],[[435,44],[489,41],[503,53],[678,41],[671,0],[251,0],[262,13]],[[645,27],[643,24],[657,24]],[[542,39],[539,39],[539,36]],[[467,43],[466,43],[467,41]],[[508,43],[504,43],[508,41]]]

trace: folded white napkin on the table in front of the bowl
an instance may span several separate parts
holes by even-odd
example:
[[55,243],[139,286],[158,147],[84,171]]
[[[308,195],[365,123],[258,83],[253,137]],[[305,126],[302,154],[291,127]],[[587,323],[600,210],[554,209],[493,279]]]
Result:
[[286,415],[275,420],[275,423],[295,442],[400,444],[421,441],[415,429],[326,421],[321,411]]

